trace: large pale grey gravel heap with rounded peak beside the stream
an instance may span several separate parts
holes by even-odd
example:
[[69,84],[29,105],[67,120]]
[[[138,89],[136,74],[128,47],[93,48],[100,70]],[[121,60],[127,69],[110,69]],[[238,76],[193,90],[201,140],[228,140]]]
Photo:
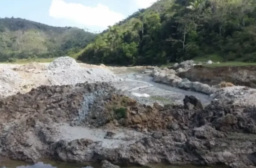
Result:
[[47,67],[47,76],[52,85],[74,85],[83,82],[117,82],[123,79],[117,77],[108,69],[83,68],[75,59],[59,57]]

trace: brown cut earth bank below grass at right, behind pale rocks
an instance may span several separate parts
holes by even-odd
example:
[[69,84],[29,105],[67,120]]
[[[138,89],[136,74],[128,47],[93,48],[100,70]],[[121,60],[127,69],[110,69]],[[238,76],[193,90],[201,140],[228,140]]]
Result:
[[190,70],[176,75],[208,85],[217,85],[225,81],[234,85],[256,88],[256,66],[205,67],[195,65]]

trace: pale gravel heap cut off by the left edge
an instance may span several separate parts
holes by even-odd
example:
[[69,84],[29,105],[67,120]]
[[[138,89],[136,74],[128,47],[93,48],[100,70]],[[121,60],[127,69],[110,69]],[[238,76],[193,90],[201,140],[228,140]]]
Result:
[[23,79],[11,69],[0,70],[0,95],[5,97],[18,92]]

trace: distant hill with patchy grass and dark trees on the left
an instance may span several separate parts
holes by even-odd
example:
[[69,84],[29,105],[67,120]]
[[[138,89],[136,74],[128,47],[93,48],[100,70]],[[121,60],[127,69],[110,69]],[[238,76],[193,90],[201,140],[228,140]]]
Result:
[[72,55],[95,38],[73,27],[54,27],[21,18],[0,18],[0,61]]

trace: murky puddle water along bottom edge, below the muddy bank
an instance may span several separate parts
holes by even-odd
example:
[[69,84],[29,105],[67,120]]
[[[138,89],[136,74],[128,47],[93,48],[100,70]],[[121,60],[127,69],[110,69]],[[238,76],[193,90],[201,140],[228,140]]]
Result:
[[[144,168],[227,168],[226,166],[193,166],[193,165],[183,165],[183,166],[171,166],[165,164],[151,164]],[[98,163],[64,163],[56,161],[42,161],[36,164],[27,164],[21,161],[1,161],[0,168],[101,168],[101,164]],[[142,168],[142,167],[122,167],[122,168]]]

